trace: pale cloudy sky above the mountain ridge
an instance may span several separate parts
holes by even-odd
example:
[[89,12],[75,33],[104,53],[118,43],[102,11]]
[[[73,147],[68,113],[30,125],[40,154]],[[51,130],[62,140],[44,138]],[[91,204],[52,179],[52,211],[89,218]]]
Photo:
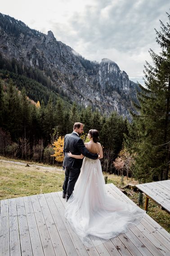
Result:
[[86,59],[115,61],[131,80],[141,82],[148,50],[160,49],[154,28],[168,21],[169,0],[5,0],[0,13],[30,28],[54,33]]

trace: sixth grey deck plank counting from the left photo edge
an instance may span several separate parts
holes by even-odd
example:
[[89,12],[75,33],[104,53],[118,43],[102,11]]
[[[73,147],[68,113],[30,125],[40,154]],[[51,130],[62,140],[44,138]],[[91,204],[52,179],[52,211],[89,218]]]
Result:
[[42,213],[44,215],[45,218],[45,223],[47,225],[48,231],[49,231],[49,235],[51,238],[51,242],[53,244],[54,247],[54,251],[56,253],[56,255],[62,255],[62,256],[67,256],[61,238],[59,236],[57,227],[54,223],[54,219],[50,213],[49,210],[49,206],[47,205],[47,202],[45,200],[45,196],[44,195],[38,195],[38,200],[40,202],[40,206],[42,209]]

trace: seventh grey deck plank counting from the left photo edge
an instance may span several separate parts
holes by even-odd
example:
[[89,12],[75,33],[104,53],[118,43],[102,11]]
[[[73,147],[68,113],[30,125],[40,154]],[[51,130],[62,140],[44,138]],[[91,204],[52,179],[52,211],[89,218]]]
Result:
[[58,212],[58,206],[54,203],[53,197],[50,193],[45,194],[45,199],[49,205],[51,215],[54,219],[54,223],[58,229],[59,235],[63,242],[64,249],[67,255],[77,255],[76,249],[72,243],[72,240],[67,232],[67,229],[63,223],[63,220]]

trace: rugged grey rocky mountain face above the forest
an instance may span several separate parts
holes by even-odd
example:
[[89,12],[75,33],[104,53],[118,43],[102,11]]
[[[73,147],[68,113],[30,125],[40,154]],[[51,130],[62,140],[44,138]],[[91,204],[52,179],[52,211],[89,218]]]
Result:
[[85,60],[57,41],[51,31],[45,35],[4,14],[0,14],[0,53],[5,58],[22,61],[23,68],[43,70],[50,75],[52,84],[73,101],[106,114],[116,111],[130,118],[137,84],[114,61]]

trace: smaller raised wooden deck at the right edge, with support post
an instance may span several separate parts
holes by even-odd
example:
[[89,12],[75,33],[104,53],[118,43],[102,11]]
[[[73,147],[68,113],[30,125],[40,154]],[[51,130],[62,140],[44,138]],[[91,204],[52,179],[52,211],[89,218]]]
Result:
[[170,180],[149,182],[136,185],[146,196],[145,210],[148,210],[148,200],[151,198],[162,209],[170,213]]

